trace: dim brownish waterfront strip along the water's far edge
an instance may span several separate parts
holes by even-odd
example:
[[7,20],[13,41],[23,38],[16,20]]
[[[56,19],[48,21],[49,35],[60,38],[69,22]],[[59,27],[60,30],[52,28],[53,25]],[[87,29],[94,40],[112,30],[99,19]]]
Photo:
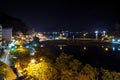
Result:
[[66,40],[47,40],[40,42],[41,45],[96,45],[96,44],[111,44],[110,41],[102,41],[96,39],[66,39]]

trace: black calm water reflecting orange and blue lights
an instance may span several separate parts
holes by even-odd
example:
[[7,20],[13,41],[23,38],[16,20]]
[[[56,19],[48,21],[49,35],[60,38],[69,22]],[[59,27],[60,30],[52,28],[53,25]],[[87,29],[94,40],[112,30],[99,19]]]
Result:
[[120,46],[119,45],[56,45],[46,46],[51,52],[73,55],[74,58],[94,67],[120,71]]

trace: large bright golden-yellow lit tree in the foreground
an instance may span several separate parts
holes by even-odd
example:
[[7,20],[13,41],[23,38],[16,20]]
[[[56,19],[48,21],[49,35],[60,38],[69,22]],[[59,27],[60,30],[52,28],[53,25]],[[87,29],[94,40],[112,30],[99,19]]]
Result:
[[24,69],[25,80],[57,80],[57,71],[51,63],[42,61],[39,63],[30,63]]

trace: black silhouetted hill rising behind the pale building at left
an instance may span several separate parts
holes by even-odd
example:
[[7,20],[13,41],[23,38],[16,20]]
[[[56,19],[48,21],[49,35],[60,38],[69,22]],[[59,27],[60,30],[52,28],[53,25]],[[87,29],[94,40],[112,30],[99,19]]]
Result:
[[9,16],[3,12],[0,12],[0,24],[3,28],[12,28],[13,35],[18,31],[26,34],[28,30],[28,27],[20,19]]

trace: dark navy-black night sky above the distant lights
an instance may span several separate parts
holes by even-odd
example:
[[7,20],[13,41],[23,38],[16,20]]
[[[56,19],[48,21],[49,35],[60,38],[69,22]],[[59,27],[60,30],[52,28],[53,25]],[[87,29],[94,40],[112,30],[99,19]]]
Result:
[[119,5],[114,2],[0,0],[0,11],[37,31],[109,30],[120,19]]

